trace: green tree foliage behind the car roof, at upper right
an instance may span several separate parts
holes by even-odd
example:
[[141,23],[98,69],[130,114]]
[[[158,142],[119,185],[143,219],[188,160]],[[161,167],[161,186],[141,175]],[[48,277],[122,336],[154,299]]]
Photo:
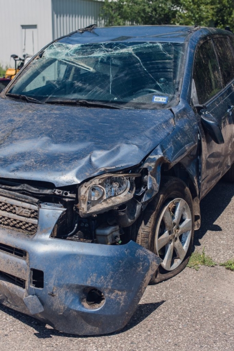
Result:
[[234,0],[104,0],[101,17],[108,25],[180,24],[234,31]]

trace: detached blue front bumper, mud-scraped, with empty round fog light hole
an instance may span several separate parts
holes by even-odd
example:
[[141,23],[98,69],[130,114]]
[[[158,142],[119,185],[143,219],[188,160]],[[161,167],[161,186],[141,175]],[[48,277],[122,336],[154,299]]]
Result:
[[[0,271],[18,275],[26,282],[23,289],[1,278],[0,302],[14,310],[33,313],[35,318],[68,333],[94,335],[123,328],[160,258],[133,241],[112,246],[53,239],[50,234],[61,212],[62,209],[42,206],[35,236],[1,229],[1,242],[24,248],[28,258],[25,261],[9,257],[14,262],[10,265],[6,262],[6,255],[10,255],[0,251]],[[31,268],[44,272],[43,289],[31,286]],[[87,306],[85,291],[90,288],[104,294],[103,305]],[[24,303],[27,296],[29,305]]]

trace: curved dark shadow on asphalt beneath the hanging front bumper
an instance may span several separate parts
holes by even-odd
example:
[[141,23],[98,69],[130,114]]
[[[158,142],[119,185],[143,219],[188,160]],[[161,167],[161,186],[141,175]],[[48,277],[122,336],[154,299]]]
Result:
[[[127,330],[130,330],[137,326],[140,322],[142,322],[145,318],[147,318],[151,313],[153,313],[159,306],[161,306],[165,301],[160,301],[156,303],[148,303],[148,304],[141,304],[138,305],[137,310],[135,311],[134,315],[128,322],[128,324],[119,331],[116,331],[114,333],[106,334],[106,335],[116,335],[122,332],[125,332]],[[12,310],[6,306],[3,306],[0,304],[0,310],[7,313],[8,315],[18,319],[20,322],[28,325],[29,327],[37,330],[37,332],[34,333],[35,336],[37,336],[39,339],[48,339],[52,338],[53,336],[62,336],[62,337],[72,337],[72,338],[88,338],[88,337],[98,337],[98,336],[103,336],[103,335],[74,335],[74,334],[67,334],[60,332],[58,330],[52,329],[52,328],[47,328],[46,325],[37,319],[27,316],[23,313],[17,312],[15,310]]]

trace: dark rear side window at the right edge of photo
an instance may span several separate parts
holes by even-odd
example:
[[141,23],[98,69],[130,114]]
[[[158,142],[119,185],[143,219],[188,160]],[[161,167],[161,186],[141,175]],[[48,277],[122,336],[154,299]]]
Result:
[[215,38],[215,44],[218,62],[223,77],[224,84],[227,85],[234,79],[234,56],[232,47],[228,38]]

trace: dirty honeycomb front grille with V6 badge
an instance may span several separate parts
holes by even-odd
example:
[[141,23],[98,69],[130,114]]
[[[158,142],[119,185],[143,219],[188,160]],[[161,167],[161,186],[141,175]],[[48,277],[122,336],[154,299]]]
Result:
[[38,227],[38,206],[0,196],[0,227],[34,234]]

